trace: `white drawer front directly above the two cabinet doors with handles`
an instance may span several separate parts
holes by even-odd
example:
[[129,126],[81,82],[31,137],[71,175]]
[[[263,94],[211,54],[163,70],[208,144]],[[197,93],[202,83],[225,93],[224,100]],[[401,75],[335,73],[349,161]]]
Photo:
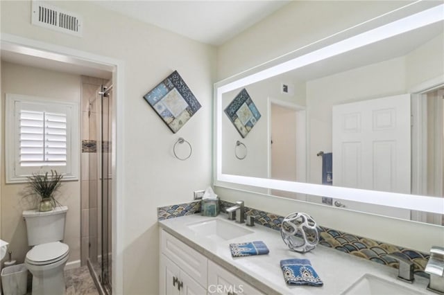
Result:
[[161,251],[200,285],[207,285],[207,258],[162,230]]

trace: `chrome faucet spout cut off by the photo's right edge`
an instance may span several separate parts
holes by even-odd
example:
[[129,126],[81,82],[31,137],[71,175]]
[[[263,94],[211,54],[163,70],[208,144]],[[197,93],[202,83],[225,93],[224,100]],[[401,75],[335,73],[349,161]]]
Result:
[[425,272],[430,275],[427,290],[444,294],[444,247],[434,246],[430,249],[430,258]]

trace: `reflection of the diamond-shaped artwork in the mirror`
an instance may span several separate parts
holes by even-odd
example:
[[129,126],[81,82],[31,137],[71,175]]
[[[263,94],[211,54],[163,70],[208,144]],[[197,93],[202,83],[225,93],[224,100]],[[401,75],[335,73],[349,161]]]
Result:
[[245,88],[237,94],[224,112],[242,138],[247,136],[248,132],[256,125],[257,120],[261,118],[261,114]]

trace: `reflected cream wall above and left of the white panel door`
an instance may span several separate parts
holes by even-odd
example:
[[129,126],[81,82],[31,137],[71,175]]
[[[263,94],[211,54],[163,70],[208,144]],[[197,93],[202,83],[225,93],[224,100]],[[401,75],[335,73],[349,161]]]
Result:
[[311,184],[322,184],[322,160],[316,154],[332,152],[332,107],[405,93],[405,75],[405,58],[398,57],[307,82]]

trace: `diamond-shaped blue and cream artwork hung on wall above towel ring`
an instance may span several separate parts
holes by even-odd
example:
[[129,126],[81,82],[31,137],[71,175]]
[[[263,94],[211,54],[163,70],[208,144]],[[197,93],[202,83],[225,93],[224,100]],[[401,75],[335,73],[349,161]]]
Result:
[[146,93],[144,99],[173,133],[178,132],[201,107],[178,71]]

